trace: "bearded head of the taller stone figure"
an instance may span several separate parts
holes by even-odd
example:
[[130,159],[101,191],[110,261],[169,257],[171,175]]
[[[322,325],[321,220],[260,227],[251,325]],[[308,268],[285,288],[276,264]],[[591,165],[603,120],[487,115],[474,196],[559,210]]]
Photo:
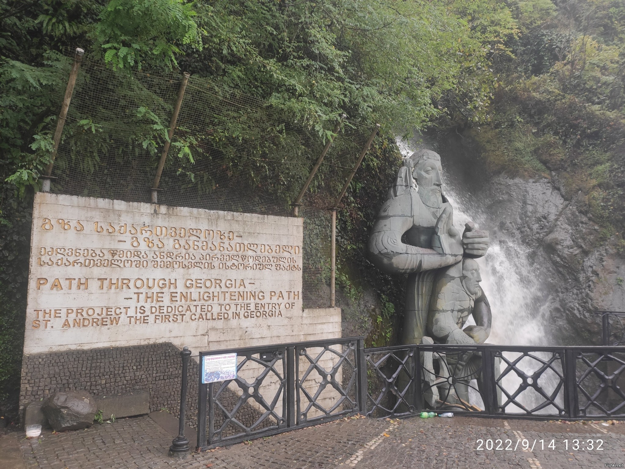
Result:
[[421,201],[431,208],[441,208],[442,197],[442,166],[441,156],[436,151],[420,150],[409,156],[412,166],[412,177],[417,181],[417,190]]

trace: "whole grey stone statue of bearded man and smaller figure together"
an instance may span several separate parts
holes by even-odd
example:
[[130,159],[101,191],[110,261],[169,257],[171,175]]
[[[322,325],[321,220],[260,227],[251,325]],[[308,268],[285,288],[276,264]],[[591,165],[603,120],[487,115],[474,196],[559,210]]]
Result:
[[[454,228],[453,208],[443,194],[441,174],[441,157],[434,151],[417,151],[405,158],[369,237],[374,265],[387,273],[408,274],[404,345],[474,345],[484,343],[490,334],[491,310],[479,287],[481,276],[474,261],[486,254],[488,232],[476,229],[472,222],[462,235]],[[476,325],[462,329],[470,315]],[[432,406],[439,399],[436,386],[441,383],[436,381],[442,380],[441,373],[445,377],[443,368],[452,369],[460,385],[451,392],[447,388],[446,403],[468,401],[471,379],[481,386],[478,353],[442,359],[437,378],[432,360],[432,356],[422,358],[424,368],[431,370],[424,377],[432,388],[430,399],[426,397]]]

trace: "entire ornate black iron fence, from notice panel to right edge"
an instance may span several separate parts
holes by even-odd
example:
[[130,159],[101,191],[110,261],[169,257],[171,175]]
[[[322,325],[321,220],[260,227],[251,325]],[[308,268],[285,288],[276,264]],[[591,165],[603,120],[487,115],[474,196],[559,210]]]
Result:
[[423,344],[365,349],[362,337],[236,353],[236,376],[202,383],[197,448],[343,416],[423,410],[506,418],[625,418],[625,346]]

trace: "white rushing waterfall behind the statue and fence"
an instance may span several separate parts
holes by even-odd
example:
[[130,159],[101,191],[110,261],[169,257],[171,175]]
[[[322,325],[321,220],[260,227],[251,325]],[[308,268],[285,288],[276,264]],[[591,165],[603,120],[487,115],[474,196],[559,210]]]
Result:
[[[398,140],[399,148],[404,156],[409,156],[419,146],[410,145]],[[445,168],[443,168],[444,171]],[[454,209],[454,226],[462,233],[464,224],[467,221],[474,221],[480,229],[489,229],[496,226],[497,220],[489,218],[484,209],[461,193],[459,189],[450,184],[450,179],[443,174],[443,191],[446,198]],[[483,258],[477,260],[482,276],[481,287],[491,305],[492,327],[491,335],[487,343],[496,345],[551,345],[548,331],[545,328],[547,323],[546,315],[547,295],[541,285],[537,266],[531,261],[531,252],[527,246],[522,245],[517,240],[511,240],[501,235],[497,231],[496,236],[491,233],[491,245]],[[469,318],[467,325],[474,323]],[[551,353],[533,352],[539,360],[549,360]],[[503,356],[512,361],[521,356],[520,353],[504,352]],[[532,375],[534,371],[542,366],[541,361],[535,360],[532,356],[522,358],[516,364],[519,370],[527,375]],[[500,363],[501,371],[506,370],[507,365]],[[559,363],[554,364],[554,368],[561,372]],[[538,378],[537,383],[542,390],[551,395],[559,383],[559,376],[556,371],[547,369]],[[514,371],[506,373],[500,381],[501,386],[509,392],[514,392],[521,385],[521,377]],[[472,381],[471,386],[476,386],[476,381]],[[469,390],[469,400],[472,404],[483,408],[481,396],[477,390]],[[506,401],[504,396],[503,401]],[[537,393],[534,388],[527,388],[516,401],[525,408],[532,409],[544,402],[544,398]],[[558,393],[556,402],[563,405],[562,391]],[[521,411],[519,407],[510,403],[506,406],[506,411],[516,413]],[[547,406],[537,413],[557,413],[554,406]]]

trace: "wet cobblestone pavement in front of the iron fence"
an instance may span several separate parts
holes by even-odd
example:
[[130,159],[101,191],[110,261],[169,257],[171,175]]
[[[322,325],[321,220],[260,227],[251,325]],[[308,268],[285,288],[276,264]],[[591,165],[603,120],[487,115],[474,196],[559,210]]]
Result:
[[[559,469],[625,463],[625,423],[606,426],[459,416],[392,421],[348,418],[194,453],[185,460],[168,457],[171,439],[144,416],[87,430],[44,431],[39,438],[22,439],[20,445],[28,469]],[[529,446],[525,451],[524,443]],[[589,450],[591,444],[594,449]]]

